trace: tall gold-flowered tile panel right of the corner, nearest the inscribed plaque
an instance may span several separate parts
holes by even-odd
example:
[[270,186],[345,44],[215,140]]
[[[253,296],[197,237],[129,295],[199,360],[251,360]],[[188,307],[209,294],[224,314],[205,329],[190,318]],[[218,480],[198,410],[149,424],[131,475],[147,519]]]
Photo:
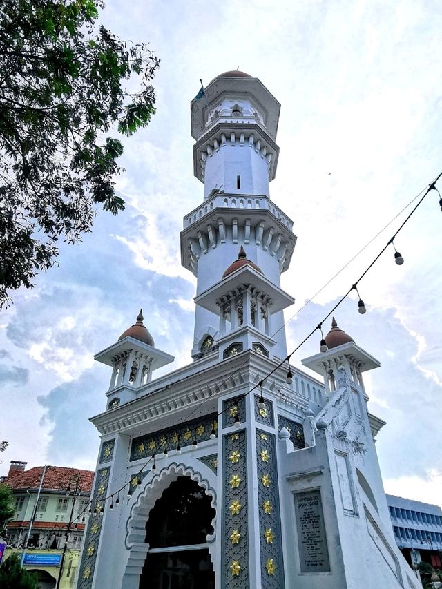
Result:
[[256,465],[262,589],[280,589],[285,584],[276,441],[273,434],[260,429],[256,429]]

